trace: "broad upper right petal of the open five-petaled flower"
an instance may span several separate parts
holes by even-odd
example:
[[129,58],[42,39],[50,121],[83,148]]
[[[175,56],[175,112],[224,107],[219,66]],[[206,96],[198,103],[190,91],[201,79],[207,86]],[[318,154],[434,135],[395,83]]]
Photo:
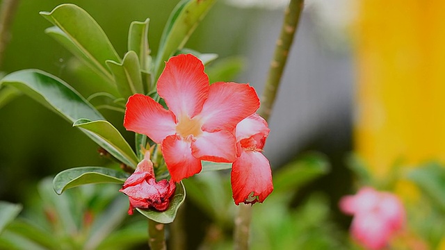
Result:
[[213,83],[200,113],[204,122],[202,129],[209,132],[220,129],[232,131],[238,122],[258,108],[257,92],[248,84]]

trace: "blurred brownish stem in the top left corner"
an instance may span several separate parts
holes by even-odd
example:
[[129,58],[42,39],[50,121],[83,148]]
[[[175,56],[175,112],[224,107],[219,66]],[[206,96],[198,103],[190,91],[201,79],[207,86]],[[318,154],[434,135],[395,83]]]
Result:
[[0,7],[0,67],[3,63],[3,54],[6,44],[10,40],[10,26],[13,22],[15,10],[19,5],[19,0],[3,0]]

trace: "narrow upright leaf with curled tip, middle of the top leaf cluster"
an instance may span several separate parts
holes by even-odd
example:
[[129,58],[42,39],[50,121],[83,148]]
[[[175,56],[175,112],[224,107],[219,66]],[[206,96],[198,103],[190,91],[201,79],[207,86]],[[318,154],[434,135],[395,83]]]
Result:
[[140,68],[149,71],[147,56],[149,55],[148,47],[148,24],[150,19],[145,22],[131,22],[128,34],[128,51],[134,51],[138,55]]

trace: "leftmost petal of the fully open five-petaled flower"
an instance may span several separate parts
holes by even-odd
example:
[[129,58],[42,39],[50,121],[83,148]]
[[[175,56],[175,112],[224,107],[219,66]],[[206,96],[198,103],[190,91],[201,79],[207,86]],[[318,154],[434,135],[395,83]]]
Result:
[[124,127],[129,131],[147,135],[161,143],[168,135],[174,135],[176,117],[170,110],[143,94],[133,94],[128,99]]

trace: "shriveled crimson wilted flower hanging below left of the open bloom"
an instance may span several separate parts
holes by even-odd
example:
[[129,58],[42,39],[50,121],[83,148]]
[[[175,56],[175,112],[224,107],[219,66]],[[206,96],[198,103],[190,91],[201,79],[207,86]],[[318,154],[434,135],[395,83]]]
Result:
[[122,188],[119,190],[127,194],[130,207],[129,215],[133,215],[134,208],[154,208],[159,211],[167,210],[170,198],[175,193],[175,182],[162,180],[156,182],[150,152],[145,153],[144,159],[138,164]]

